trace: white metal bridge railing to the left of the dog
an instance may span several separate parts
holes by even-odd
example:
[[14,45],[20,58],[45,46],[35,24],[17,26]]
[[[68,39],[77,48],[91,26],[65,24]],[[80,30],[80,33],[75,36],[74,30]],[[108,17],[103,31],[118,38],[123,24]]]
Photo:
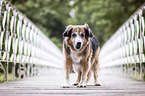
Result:
[[8,80],[10,70],[16,79],[39,74],[42,67],[61,68],[61,60],[61,51],[39,28],[9,2],[0,1],[0,81]]

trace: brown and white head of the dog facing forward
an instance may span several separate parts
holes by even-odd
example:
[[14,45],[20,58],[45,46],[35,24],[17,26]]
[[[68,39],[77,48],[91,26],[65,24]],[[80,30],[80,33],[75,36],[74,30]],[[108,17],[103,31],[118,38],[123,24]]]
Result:
[[67,43],[73,50],[80,50],[87,44],[89,38],[93,34],[88,26],[85,25],[69,25],[63,33],[63,37],[67,37]]

